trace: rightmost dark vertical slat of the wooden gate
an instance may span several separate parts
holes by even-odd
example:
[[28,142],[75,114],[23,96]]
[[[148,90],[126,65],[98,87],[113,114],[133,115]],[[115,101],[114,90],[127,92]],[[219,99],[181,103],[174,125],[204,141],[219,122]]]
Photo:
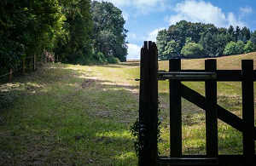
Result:
[[255,165],[253,60],[241,60],[244,166]]

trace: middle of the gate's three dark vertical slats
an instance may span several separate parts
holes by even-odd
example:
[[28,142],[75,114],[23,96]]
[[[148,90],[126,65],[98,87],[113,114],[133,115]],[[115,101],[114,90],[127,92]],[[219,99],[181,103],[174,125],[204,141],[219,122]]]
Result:
[[[206,72],[216,72],[216,60],[205,61]],[[217,115],[217,81],[207,80],[206,89],[206,129],[207,157],[218,157],[218,115]]]

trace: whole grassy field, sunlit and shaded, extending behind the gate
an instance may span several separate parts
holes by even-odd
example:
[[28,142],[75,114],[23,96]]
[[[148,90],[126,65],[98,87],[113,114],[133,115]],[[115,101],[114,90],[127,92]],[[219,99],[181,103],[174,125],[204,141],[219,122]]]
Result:
[[[256,53],[218,58],[241,69]],[[204,69],[204,60],[182,60]],[[168,61],[160,61],[160,70]],[[256,62],[254,62],[256,69]],[[139,61],[118,65],[48,64],[0,84],[0,165],[137,165],[130,126],[138,117]],[[184,83],[204,94],[204,83]],[[159,84],[160,155],[169,155],[168,81]],[[241,83],[218,83],[218,104],[241,117]],[[218,121],[219,154],[241,154],[241,133]],[[183,153],[205,154],[205,112],[183,100]]]

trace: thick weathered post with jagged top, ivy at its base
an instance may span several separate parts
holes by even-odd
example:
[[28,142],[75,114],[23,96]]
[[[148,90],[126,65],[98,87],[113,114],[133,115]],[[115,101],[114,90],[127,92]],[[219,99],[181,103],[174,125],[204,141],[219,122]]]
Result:
[[158,53],[155,43],[141,49],[139,95],[139,166],[158,166]]

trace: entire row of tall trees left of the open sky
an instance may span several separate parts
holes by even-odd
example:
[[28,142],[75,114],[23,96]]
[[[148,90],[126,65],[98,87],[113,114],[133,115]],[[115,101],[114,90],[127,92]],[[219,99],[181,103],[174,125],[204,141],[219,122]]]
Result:
[[0,73],[45,50],[64,63],[125,61],[127,30],[113,3],[90,0],[1,0]]

